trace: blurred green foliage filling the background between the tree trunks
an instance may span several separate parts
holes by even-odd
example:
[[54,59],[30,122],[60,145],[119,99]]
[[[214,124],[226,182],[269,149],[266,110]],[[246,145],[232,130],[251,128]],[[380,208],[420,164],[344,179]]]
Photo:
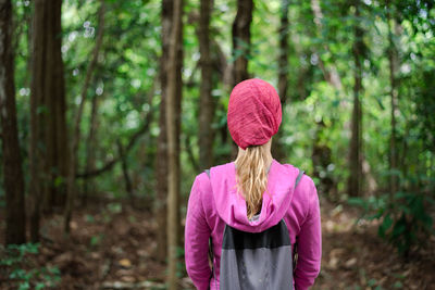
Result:
[[[18,137],[23,152],[23,168],[27,168],[29,156],[29,97],[30,97],[30,23],[33,2],[13,0],[15,85],[18,117]],[[156,112],[149,129],[132,148],[126,156],[128,172],[135,187],[135,196],[152,198],[156,186],[156,165],[159,128],[161,87],[159,84],[160,55],[162,54],[162,23],[160,0],[104,1],[104,34],[100,56],[89,84],[82,122],[83,141],[78,148],[79,173],[87,162],[86,140],[90,131],[91,100],[98,100],[94,148],[96,168],[113,161],[119,152],[116,142],[126,146],[132,136],[145,124],[149,112]],[[388,9],[383,1],[360,1],[361,16],[355,16],[353,2],[323,0],[320,2],[323,18],[316,25],[310,1],[288,1],[288,90],[283,105],[282,130],[286,159],[313,176],[316,184],[332,180],[332,192],[319,191],[322,196],[335,196],[343,200],[349,176],[348,148],[352,109],[353,29],[364,30],[365,47],[362,64],[362,150],[365,176],[372,176],[374,188],[364,188],[370,194],[386,192],[393,172],[389,168],[390,118],[390,72],[388,52],[387,12],[397,24],[394,45],[398,52],[397,89],[398,110],[396,115],[396,146],[401,191],[389,198],[377,194],[349,202],[359,204],[366,213],[365,218],[382,222],[380,236],[395,243],[402,252],[418,243],[428,232],[432,222],[430,211],[433,192],[427,187],[435,177],[435,9],[433,1],[391,1]],[[181,131],[182,201],[191,188],[198,174],[198,115],[199,85],[201,83],[198,62],[199,1],[186,1],[184,16],[183,102]],[[71,129],[77,109],[77,96],[82,92],[90,55],[99,27],[100,1],[67,0],[62,7],[62,58],[64,62],[65,91],[67,97],[67,124]],[[256,0],[251,24],[251,41],[248,71],[250,76],[263,78],[277,87],[279,16],[282,1]],[[232,64],[232,22],[236,15],[236,2],[215,0],[211,18],[210,39],[213,59],[213,98],[215,115],[212,123],[214,164],[228,162],[232,144],[226,128],[226,110],[229,90],[224,84],[222,67],[217,63]],[[237,41],[240,41],[237,39]],[[240,43],[245,53],[247,43]],[[219,53],[217,53],[219,52]],[[221,54],[220,54],[221,53]],[[326,73],[334,67],[341,87],[334,87]],[[152,96],[152,101],[149,97]],[[38,108],[45,112],[47,108]],[[319,124],[323,124],[320,126]],[[313,164],[313,149],[321,146],[331,153],[325,166]],[[0,151],[0,159],[2,152]],[[0,171],[0,175],[1,175]],[[28,182],[28,171],[25,177]],[[419,176],[417,178],[417,176]],[[82,181],[82,180],[79,180]],[[366,181],[366,180],[364,180]],[[55,185],[64,180],[57,179]],[[95,177],[96,191],[112,198],[127,197],[122,168],[113,166]],[[368,185],[370,182],[362,182]],[[433,188],[433,187],[432,187]],[[0,207],[4,193],[0,187]],[[182,209],[183,211],[184,209]],[[109,203],[102,219],[110,222],[113,214],[122,211],[120,203]],[[88,223],[94,217],[86,216]],[[91,244],[98,244],[95,237]],[[18,275],[17,273],[16,275]]]

